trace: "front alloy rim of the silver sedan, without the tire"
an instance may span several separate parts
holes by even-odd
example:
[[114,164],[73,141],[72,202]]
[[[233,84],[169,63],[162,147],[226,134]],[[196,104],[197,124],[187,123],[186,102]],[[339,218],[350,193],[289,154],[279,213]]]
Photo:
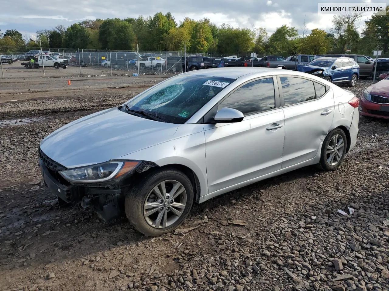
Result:
[[175,223],[186,207],[185,187],[178,181],[165,180],[156,185],[147,195],[143,206],[146,222],[156,229]]

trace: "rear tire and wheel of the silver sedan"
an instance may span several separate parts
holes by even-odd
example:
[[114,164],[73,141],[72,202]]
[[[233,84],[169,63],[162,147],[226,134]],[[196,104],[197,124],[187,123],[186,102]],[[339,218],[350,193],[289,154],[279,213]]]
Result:
[[[343,140],[343,142],[340,142],[340,139]],[[327,151],[331,151],[333,149],[334,142],[337,141],[338,147],[336,151],[338,154],[331,155],[331,153],[327,153]],[[343,130],[340,128],[335,128],[332,130],[326,138],[324,139],[323,145],[321,147],[321,155],[320,155],[320,161],[319,161],[319,169],[323,171],[333,171],[336,170],[340,166],[340,164],[343,161],[343,158],[346,154],[347,149],[347,137]],[[340,153],[340,151],[342,151]],[[332,158],[334,156],[334,158]],[[333,160],[333,163],[331,163],[331,160]]]

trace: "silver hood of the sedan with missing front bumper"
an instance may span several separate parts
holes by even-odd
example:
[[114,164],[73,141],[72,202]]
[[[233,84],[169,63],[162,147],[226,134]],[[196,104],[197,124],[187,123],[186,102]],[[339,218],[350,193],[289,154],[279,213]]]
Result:
[[117,107],[72,121],[40,142],[40,149],[67,168],[120,159],[172,139],[178,124],[148,120]]

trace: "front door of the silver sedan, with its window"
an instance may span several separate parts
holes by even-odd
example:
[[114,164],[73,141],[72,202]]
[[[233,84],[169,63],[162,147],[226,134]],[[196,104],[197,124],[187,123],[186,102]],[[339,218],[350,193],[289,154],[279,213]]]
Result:
[[241,111],[237,123],[204,124],[209,192],[281,169],[284,113],[276,79],[251,80],[221,100],[218,109]]

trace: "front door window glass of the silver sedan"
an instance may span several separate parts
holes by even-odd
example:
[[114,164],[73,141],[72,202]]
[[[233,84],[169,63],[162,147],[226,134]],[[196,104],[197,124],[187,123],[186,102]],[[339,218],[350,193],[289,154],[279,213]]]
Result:
[[273,109],[275,93],[273,78],[255,80],[243,85],[219,104],[219,109],[230,107],[250,115]]

